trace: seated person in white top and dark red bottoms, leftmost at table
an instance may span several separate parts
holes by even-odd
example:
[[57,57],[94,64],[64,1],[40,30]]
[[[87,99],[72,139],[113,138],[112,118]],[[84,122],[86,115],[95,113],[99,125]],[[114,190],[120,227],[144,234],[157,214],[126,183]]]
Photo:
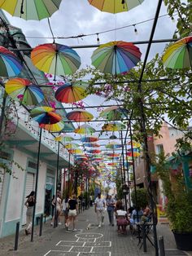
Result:
[[118,233],[120,234],[120,227],[121,233],[126,234],[126,227],[129,224],[129,220],[127,218],[127,212],[121,206],[119,210],[116,210],[116,224],[118,227]]

